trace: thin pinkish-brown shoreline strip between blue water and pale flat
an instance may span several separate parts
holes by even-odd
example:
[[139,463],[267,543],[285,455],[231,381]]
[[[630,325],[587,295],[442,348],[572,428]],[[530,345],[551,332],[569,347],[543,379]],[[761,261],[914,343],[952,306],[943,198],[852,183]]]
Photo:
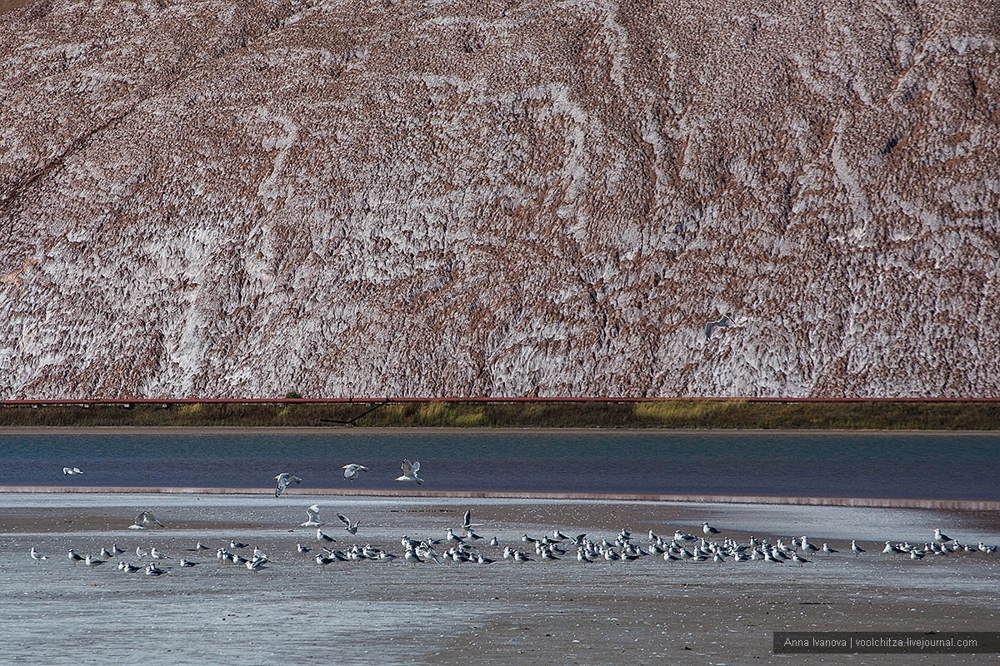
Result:
[[[269,488],[182,488],[162,486],[0,486],[0,493],[89,493],[141,495],[270,495]],[[887,509],[1000,511],[1000,500],[903,499],[878,497],[785,497],[777,495],[684,495],[658,493],[570,493],[521,490],[396,490],[359,488],[302,488],[295,495],[340,497],[415,497],[536,500],[597,500],[619,502],[694,502],[705,504],[776,504],[842,506]]]

